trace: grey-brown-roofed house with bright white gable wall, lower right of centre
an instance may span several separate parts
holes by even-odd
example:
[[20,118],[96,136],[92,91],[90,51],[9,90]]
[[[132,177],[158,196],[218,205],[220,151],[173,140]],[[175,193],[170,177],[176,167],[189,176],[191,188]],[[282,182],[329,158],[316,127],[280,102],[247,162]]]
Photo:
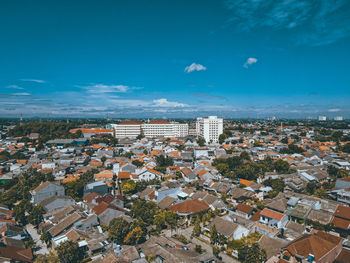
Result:
[[213,219],[206,230],[209,232],[213,225],[215,225],[216,231],[228,240],[237,240],[249,235],[249,229],[218,216]]

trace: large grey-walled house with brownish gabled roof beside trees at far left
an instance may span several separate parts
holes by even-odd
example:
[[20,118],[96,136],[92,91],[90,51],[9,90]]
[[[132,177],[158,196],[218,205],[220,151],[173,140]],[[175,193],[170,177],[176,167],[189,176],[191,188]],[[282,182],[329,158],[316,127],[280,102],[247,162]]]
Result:
[[53,182],[41,183],[37,188],[31,191],[33,204],[38,204],[53,196],[64,195],[64,187]]

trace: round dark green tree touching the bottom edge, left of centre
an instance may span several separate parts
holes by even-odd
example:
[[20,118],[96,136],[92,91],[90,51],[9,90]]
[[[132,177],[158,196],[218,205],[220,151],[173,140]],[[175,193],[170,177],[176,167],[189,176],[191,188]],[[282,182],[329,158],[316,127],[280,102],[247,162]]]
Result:
[[61,263],[78,263],[84,258],[76,242],[65,241],[56,248],[56,251]]

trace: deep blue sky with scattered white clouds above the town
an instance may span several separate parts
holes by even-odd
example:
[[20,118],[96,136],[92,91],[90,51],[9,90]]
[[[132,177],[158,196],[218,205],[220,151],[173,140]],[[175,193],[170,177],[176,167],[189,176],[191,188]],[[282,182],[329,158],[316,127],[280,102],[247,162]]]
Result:
[[348,0],[0,6],[3,117],[350,117]]

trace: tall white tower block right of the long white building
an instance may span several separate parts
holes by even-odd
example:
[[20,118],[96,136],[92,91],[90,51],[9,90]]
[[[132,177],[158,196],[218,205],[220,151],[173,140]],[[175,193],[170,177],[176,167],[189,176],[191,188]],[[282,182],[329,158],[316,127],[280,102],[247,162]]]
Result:
[[217,116],[197,118],[197,135],[205,139],[206,142],[218,142],[220,134],[223,132],[224,120]]

